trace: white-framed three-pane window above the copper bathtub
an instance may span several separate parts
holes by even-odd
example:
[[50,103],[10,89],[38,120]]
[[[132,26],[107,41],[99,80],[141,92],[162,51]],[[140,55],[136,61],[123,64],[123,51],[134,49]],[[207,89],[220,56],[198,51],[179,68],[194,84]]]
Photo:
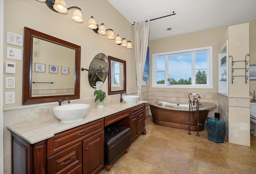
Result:
[[213,88],[212,46],[152,55],[152,88]]

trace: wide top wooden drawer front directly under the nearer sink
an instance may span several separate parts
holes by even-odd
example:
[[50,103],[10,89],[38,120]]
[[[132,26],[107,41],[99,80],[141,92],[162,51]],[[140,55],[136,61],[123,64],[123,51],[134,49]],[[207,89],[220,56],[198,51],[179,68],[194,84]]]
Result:
[[47,140],[47,156],[60,152],[102,130],[104,130],[104,118],[56,134]]

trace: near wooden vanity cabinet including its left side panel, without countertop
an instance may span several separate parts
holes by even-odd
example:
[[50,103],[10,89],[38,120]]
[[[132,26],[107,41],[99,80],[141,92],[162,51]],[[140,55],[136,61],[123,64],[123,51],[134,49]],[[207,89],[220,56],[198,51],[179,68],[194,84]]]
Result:
[[104,167],[104,118],[35,144],[11,135],[12,174],[89,174]]

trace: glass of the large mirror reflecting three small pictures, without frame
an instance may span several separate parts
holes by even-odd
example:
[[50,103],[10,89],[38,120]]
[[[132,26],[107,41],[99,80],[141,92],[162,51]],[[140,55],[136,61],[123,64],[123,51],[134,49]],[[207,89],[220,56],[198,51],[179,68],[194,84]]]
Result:
[[71,48],[33,38],[32,97],[74,94],[75,53]]

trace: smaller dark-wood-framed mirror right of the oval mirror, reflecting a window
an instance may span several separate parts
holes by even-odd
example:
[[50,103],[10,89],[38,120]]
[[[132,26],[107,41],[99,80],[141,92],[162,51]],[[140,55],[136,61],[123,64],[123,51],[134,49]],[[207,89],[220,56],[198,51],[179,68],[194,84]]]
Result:
[[126,92],[126,61],[108,56],[108,95]]

